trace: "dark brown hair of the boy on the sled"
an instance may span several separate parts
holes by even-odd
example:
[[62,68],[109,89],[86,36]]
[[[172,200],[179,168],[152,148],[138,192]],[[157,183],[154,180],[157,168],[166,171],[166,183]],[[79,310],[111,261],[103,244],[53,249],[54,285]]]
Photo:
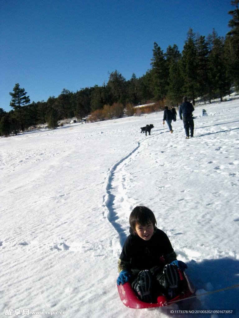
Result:
[[154,213],[146,206],[138,205],[130,213],[129,225],[133,231],[135,231],[136,223],[145,226],[149,222],[152,222],[154,227],[157,225]]

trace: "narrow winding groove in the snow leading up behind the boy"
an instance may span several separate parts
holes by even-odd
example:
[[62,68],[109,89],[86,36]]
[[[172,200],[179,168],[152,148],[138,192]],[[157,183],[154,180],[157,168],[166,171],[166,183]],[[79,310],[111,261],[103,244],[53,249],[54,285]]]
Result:
[[105,206],[108,210],[107,219],[112,224],[112,226],[115,228],[115,230],[118,232],[121,246],[124,245],[124,242],[125,242],[127,236],[124,232],[125,229],[123,229],[122,226],[116,222],[116,220],[119,219],[119,216],[118,216],[116,209],[115,209],[115,206],[114,206],[115,205],[114,201],[115,201],[116,196],[112,193],[113,192],[112,191],[113,190],[112,182],[114,180],[115,170],[118,168],[118,166],[122,162],[124,162],[127,158],[129,158],[139,147],[140,147],[140,142],[138,142],[138,145],[132,151],[130,151],[126,156],[124,156],[119,161],[117,161],[115,164],[113,164],[113,166],[109,169],[109,177],[108,177],[108,181],[106,184],[106,195],[103,197],[103,206]]

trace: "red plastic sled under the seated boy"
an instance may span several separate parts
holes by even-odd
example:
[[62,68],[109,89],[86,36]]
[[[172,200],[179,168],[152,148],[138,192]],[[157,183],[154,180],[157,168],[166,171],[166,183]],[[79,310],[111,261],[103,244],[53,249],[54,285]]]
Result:
[[181,292],[177,297],[173,299],[169,300],[164,294],[160,293],[157,297],[156,303],[143,302],[137,297],[129,282],[125,283],[124,285],[117,285],[120,299],[128,308],[153,308],[167,306],[170,305],[171,302],[183,300],[184,298],[190,297],[194,293],[193,284],[186,273],[180,270],[178,270],[178,272],[180,274],[181,280]]

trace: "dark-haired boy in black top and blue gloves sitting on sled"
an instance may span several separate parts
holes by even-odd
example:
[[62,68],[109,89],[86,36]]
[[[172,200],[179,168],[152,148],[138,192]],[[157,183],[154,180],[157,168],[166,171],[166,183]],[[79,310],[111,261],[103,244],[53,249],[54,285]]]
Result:
[[157,229],[154,213],[145,206],[136,206],[129,224],[130,235],[118,261],[117,284],[129,281],[144,302],[152,302],[153,291],[160,286],[170,299],[176,297],[180,280],[177,268],[184,270],[187,265],[177,260],[169,238]]

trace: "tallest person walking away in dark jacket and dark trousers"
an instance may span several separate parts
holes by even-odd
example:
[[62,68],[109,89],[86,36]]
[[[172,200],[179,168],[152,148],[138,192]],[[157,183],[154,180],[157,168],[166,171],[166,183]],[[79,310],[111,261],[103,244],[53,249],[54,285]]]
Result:
[[181,120],[183,120],[184,129],[186,133],[186,139],[188,139],[189,129],[190,129],[190,137],[193,137],[194,121],[192,118],[192,112],[194,111],[194,107],[192,106],[190,102],[187,101],[187,96],[185,96],[183,100],[184,102],[179,106],[179,117]]

